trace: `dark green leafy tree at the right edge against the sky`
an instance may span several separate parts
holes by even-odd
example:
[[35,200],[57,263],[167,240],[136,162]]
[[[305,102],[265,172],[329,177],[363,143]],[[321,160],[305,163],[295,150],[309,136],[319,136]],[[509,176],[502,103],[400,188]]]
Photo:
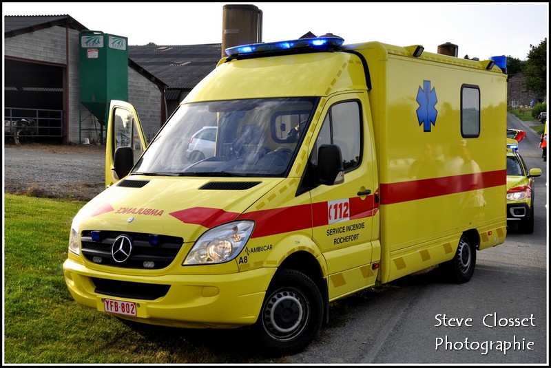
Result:
[[547,91],[547,37],[537,46],[530,45],[530,49],[522,67],[526,77],[523,85],[538,98],[543,98]]

